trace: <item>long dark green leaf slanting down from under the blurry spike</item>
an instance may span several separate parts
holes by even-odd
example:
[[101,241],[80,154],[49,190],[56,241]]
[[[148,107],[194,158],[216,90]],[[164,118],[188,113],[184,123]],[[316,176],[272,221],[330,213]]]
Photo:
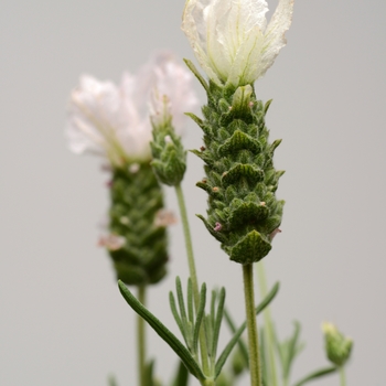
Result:
[[194,361],[191,353],[186,347],[179,341],[179,339],[159,320],[157,319],[147,308],[144,308],[136,297],[129,291],[121,280],[118,280],[119,291],[127,301],[127,303],[140,315],[148,324],[169,344],[174,353],[181,358],[186,368],[197,379],[203,380],[205,376],[201,371],[199,364]]

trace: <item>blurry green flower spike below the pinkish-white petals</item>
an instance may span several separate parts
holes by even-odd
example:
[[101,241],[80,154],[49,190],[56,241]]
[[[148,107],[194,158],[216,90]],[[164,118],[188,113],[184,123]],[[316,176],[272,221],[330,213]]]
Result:
[[117,279],[133,286],[156,283],[165,276],[168,261],[165,227],[170,222],[162,189],[149,163],[115,169],[110,185],[110,235],[101,244]]

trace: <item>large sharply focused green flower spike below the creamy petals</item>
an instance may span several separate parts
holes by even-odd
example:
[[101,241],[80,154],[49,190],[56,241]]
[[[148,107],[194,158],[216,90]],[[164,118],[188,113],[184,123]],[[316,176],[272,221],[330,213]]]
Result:
[[207,94],[204,119],[190,115],[204,132],[204,146],[192,151],[205,163],[196,185],[208,194],[207,217],[199,217],[230,260],[256,262],[280,232],[285,204],[275,194],[283,174],[272,161],[280,140],[269,142],[265,124],[270,101],[256,100],[253,85],[211,83]]

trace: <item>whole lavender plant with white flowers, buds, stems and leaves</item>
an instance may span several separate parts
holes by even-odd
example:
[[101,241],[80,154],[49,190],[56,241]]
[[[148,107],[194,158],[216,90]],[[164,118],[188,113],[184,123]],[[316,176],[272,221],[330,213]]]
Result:
[[[181,187],[186,151],[179,131],[182,112],[196,104],[190,73],[161,54],[137,76],[126,74],[119,87],[85,76],[72,94],[67,130],[72,150],[101,156],[111,172],[109,225],[100,244],[111,257],[122,297],[139,315],[140,386],[160,385],[153,376],[154,362],[146,354],[144,322],[181,361],[172,386],[186,386],[189,374],[203,386],[235,386],[246,371],[251,386],[301,386],[335,372],[341,375],[341,386],[346,385],[344,365],[352,341],[332,324],[323,326],[332,366],[291,383],[294,358],[303,349],[300,323],[296,322],[289,339],[279,340],[268,307],[279,283],[268,290],[261,261],[280,233],[285,202],[276,192],[283,171],[274,165],[281,140],[270,142],[265,122],[271,101],[258,99],[254,83],[286,45],[292,10],[293,0],[279,0],[269,23],[265,0],[187,0],[183,12],[182,29],[207,76],[185,60],[207,96],[202,117],[186,114],[203,130],[203,146],[192,150],[204,162],[205,175],[196,185],[208,196],[207,215],[199,217],[229,259],[242,265],[246,321],[239,326],[226,307],[225,288],[212,291],[208,300],[194,260]],[[167,272],[165,227],[173,222],[164,210],[161,184],[175,190],[186,245],[186,290],[178,277],[175,293],[169,297],[182,340],[146,305],[146,288]],[[261,297],[258,305],[254,266]],[[137,297],[128,286],[138,288]],[[260,312],[264,326],[258,329]],[[223,321],[232,337],[221,351]],[[110,385],[116,385],[115,379]]]

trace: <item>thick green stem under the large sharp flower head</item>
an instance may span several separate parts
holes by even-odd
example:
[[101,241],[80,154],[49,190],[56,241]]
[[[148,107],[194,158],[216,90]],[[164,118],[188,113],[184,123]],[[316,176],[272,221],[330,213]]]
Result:
[[259,340],[258,340],[257,322],[256,322],[256,314],[255,314],[254,266],[251,264],[246,264],[243,266],[243,276],[244,276],[245,308],[246,308],[247,328],[248,328],[250,385],[261,386]]

